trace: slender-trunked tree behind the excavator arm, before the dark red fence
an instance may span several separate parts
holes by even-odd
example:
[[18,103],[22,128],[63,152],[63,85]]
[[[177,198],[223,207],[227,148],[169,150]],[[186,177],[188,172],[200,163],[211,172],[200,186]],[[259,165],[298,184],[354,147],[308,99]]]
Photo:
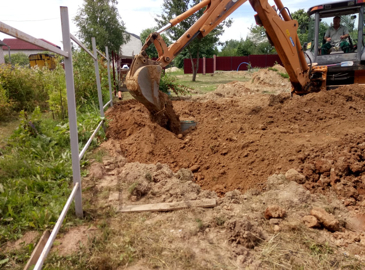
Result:
[[[198,4],[199,0],[192,0],[193,5]],[[184,13],[189,9],[189,0],[164,0],[162,4],[164,12],[161,15],[157,15],[155,21],[158,24],[158,27],[165,26],[170,19]],[[203,15],[204,8],[195,12],[193,15],[188,17],[187,19],[181,21],[176,26],[169,28],[166,30],[166,35],[174,41],[180,38],[185,31],[187,31],[198,19],[201,15]],[[224,20],[218,26],[216,26],[207,36],[204,38],[195,38],[192,42],[190,42],[185,49],[180,54],[185,54],[188,52],[192,66],[193,66],[193,78],[192,81],[195,82],[196,73],[199,67],[199,56],[211,57],[212,52],[216,52],[216,45],[219,43],[219,36],[224,33],[223,26],[230,27],[232,24],[232,20]],[[185,52],[184,52],[185,51]],[[196,55],[197,61],[196,64],[193,62],[193,55]]]

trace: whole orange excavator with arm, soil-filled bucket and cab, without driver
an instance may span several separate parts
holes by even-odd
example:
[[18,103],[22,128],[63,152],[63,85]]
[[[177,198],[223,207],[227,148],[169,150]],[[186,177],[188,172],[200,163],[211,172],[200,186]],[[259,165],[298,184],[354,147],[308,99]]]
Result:
[[[193,39],[206,36],[245,2],[246,0],[202,0],[147,37],[141,52],[135,55],[130,66],[126,85],[131,95],[158,118],[157,122],[161,126],[174,133],[180,131],[178,117],[172,109],[171,101],[166,94],[158,90],[162,68],[171,63]],[[361,58],[365,60],[362,34],[365,0],[336,1],[308,9],[309,34],[308,42],[303,44],[304,48],[297,35],[298,22],[293,20],[289,9],[284,7],[280,0],[274,0],[276,6],[270,5],[268,0],[249,0],[249,2],[257,13],[254,15],[256,23],[265,27],[270,44],[275,47],[287,70],[292,95],[326,90],[326,83],[329,81],[331,85],[365,82],[365,67],[361,61]],[[176,42],[166,46],[161,32],[202,8],[205,8],[203,15]],[[320,35],[324,35],[325,28],[330,26],[326,20],[333,19],[334,16],[341,16],[341,23],[346,21],[348,28],[352,27],[350,40],[351,36],[352,38],[356,36],[356,40],[350,42],[349,53],[334,50],[335,53],[321,55],[320,45],[325,41],[321,40]],[[159,56],[155,61],[146,54],[146,48],[152,43]],[[350,62],[352,63],[349,64]]]

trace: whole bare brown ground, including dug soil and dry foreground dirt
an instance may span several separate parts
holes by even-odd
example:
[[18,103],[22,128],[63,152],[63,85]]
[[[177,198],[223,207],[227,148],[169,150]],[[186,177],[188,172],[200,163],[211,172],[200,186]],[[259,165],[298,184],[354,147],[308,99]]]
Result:
[[[52,253],[100,270],[364,269],[365,87],[290,98],[267,74],[284,83],[260,70],[173,101],[180,120],[198,122],[181,136],[135,100],[108,109],[98,149],[108,154],[82,180],[88,221],[64,228]],[[217,206],[118,212],[200,199]]]

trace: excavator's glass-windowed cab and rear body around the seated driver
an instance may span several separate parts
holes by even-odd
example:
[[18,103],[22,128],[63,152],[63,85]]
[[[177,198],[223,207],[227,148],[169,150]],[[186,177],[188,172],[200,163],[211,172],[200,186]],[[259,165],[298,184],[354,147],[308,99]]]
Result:
[[[308,64],[327,66],[327,87],[365,83],[363,2],[335,1],[308,9],[310,19],[306,60]],[[334,17],[339,17],[340,25],[349,32],[349,37],[341,39],[341,42],[324,40],[327,29],[333,26]],[[341,65],[347,62],[353,62],[352,66]]]

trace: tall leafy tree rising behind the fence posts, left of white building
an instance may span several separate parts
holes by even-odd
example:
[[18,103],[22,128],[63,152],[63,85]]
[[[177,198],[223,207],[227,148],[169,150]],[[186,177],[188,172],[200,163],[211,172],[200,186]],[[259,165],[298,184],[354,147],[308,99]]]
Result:
[[120,46],[130,39],[126,27],[119,15],[116,0],[84,0],[73,19],[80,29],[77,36],[91,46],[91,38],[95,37],[96,46],[104,50],[120,51]]

